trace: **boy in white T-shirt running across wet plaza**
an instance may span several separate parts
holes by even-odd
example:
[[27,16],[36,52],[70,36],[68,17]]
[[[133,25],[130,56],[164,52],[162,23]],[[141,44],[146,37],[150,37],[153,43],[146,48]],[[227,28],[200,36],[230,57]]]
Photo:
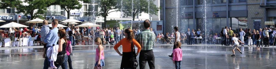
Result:
[[[238,47],[239,47],[239,43],[238,42],[240,42],[241,44],[244,44],[244,43],[242,43],[238,38],[236,38],[236,34],[233,34],[232,35],[233,36],[233,38],[232,38],[232,41],[233,41],[233,44],[232,44],[232,52],[233,52],[233,55],[231,55],[231,56],[236,56],[235,55],[235,49],[237,49],[238,51],[240,51],[240,49],[238,49]],[[242,54],[242,52],[240,51],[240,53]]]

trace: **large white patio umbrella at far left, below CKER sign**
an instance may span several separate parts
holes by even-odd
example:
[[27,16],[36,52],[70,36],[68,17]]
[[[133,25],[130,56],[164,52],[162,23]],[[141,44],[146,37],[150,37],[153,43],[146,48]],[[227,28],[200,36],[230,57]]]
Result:
[[17,27],[20,28],[20,27],[29,27],[29,26],[15,23],[15,22],[11,22],[11,23],[0,26],[0,28],[17,28]]

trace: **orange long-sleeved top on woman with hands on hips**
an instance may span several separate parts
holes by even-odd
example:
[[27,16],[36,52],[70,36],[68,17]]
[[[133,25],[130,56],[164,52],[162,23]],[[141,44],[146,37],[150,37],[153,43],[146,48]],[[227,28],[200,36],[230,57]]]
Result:
[[[141,50],[140,44],[135,39],[132,39],[132,42],[133,42],[133,47],[135,45],[138,48],[137,52],[140,52]],[[123,52],[131,52],[131,43],[129,43],[127,38],[121,39],[119,43],[117,43],[113,48],[117,50],[118,47],[121,45],[123,46]]]

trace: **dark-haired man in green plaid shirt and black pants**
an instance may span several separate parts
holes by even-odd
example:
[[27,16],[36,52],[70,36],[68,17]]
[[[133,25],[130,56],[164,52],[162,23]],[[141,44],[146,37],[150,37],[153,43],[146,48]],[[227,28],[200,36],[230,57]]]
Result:
[[141,51],[139,56],[139,67],[145,69],[145,65],[148,61],[150,69],[155,69],[153,46],[155,42],[155,34],[150,31],[150,20],[144,21],[145,30],[137,35],[137,42],[141,45]]

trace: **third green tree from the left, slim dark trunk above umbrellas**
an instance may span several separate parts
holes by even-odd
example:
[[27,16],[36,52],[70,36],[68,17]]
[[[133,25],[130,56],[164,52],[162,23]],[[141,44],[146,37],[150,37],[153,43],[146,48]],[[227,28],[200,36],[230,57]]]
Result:
[[[81,9],[82,4],[79,1],[90,2],[90,0],[55,0],[54,5],[59,5],[67,12],[67,19],[70,18],[70,11],[74,9]],[[69,23],[67,23],[69,26]]]

